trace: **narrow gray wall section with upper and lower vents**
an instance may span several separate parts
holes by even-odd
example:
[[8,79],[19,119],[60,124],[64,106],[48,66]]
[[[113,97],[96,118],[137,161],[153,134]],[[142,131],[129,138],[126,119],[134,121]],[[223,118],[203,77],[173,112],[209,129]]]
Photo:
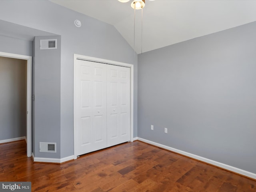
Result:
[[[57,49],[40,50],[40,40],[57,39]],[[35,157],[60,158],[60,36],[34,39],[33,153]],[[39,142],[56,142],[57,153],[39,152]]]

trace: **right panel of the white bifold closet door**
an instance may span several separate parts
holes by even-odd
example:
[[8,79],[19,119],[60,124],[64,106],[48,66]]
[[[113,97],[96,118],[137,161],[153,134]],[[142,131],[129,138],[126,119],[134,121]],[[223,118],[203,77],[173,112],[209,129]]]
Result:
[[130,68],[107,67],[108,147],[130,140]]

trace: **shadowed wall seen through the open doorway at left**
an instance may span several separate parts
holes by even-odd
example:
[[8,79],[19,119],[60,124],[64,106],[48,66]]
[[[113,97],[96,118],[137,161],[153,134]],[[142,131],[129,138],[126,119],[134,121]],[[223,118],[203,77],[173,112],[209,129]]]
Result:
[[27,61],[0,57],[0,140],[26,136]]

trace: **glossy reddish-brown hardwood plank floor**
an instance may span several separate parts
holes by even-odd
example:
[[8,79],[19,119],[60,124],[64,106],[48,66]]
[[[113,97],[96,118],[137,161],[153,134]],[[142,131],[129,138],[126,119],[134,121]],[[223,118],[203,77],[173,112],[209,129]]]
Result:
[[25,141],[0,144],[0,181],[32,192],[256,192],[256,181],[136,141],[64,164],[33,163]]

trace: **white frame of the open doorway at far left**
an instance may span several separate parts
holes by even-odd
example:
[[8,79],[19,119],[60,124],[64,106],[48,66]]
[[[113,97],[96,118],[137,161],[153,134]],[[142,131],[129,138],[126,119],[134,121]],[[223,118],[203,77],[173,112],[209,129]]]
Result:
[[32,93],[32,56],[0,52],[2,57],[27,60],[27,156],[32,155],[32,131],[31,131],[31,93]]

